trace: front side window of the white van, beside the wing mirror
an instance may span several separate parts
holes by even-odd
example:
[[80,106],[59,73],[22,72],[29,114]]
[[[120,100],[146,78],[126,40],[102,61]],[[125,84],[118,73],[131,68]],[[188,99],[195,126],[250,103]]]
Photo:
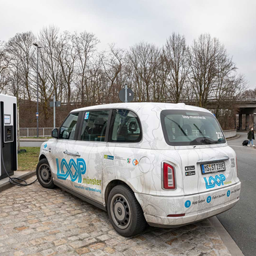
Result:
[[74,139],[79,113],[71,113],[60,128],[60,139]]

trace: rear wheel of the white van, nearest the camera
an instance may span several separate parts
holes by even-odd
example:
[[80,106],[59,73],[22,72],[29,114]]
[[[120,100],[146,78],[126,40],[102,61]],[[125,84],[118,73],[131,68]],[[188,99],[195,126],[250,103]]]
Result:
[[147,222],[136,197],[127,185],[117,185],[109,193],[107,212],[112,226],[121,236],[141,233]]

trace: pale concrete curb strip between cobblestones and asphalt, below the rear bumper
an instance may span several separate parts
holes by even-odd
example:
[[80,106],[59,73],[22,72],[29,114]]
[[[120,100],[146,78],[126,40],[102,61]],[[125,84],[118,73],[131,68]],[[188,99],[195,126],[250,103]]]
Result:
[[217,233],[219,234],[220,238],[222,239],[225,246],[228,248],[230,255],[232,256],[244,256],[243,252],[241,252],[241,249],[238,247],[235,241],[233,241],[233,238],[230,236],[227,230],[222,226],[220,223],[220,220],[217,219],[216,216],[210,217],[209,221],[212,223],[214,228],[217,230]]

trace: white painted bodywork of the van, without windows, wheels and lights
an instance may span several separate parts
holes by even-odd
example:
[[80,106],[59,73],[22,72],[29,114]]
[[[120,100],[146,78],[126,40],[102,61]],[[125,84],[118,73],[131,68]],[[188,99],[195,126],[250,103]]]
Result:
[[[147,222],[158,226],[185,225],[203,220],[236,204],[241,183],[237,177],[236,153],[227,143],[196,147],[171,146],[163,136],[160,122],[162,110],[185,109],[210,113],[208,110],[185,104],[128,103],[90,106],[72,112],[90,112],[98,109],[130,109],[136,113],[141,121],[141,141],[117,143],[50,139],[42,144],[40,155],[47,158],[57,185],[68,187],[106,206],[105,193],[109,182],[123,181],[135,193]],[[79,156],[66,155],[65,150],[78,152]],[[77,174],[74,181],[71,180],[71,175],[65,179],[67,170],[61,168],[63,159],[68,165],[74,160],[75,168],[74,165],[69,165],[71,174]],[[83,163],[79,170],[77,159],[85,161],[86,171],[83,171]],[[225,159],[224,172],[201,174],[200,162],[218,159]],[[162,188],[163,162],[174,166],[175,190]],[[195,175],[186,177],[186,166],[195,166]],[[63,179],[60,178],[61,175]],[[90,184],[93,180],[94,184]],[[187,201],[190,203],[186,204]],[[185,216],[167,217],[168,214]]]

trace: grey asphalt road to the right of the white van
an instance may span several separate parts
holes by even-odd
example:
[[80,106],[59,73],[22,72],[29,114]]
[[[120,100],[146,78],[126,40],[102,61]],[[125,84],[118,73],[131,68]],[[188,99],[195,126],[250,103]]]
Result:
[[256,149],[243,147],[241,143],[247,139],[247,133],[238,134],[240,138],[228,141],[228,145],[237,155],[240,201],[217,218],[244,255],[252,256],[256,255]]

